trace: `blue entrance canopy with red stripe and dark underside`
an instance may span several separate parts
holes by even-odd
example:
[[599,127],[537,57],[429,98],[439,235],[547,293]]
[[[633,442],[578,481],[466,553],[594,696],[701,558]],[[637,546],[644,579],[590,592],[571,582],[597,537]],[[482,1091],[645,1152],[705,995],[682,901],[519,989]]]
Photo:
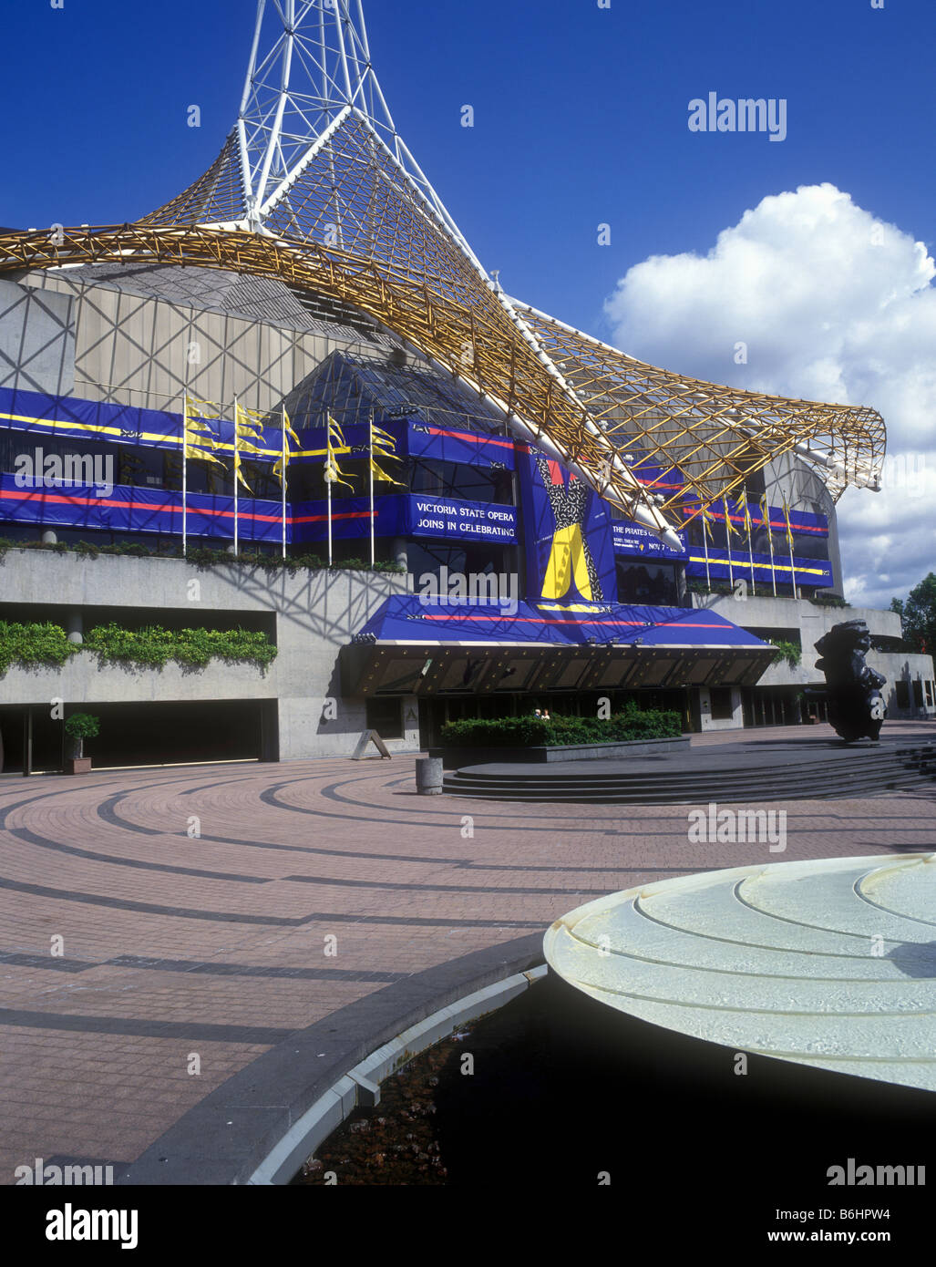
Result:
[[346,694],[750,685],[776,650],[716,612],[395,594],[342,650]]

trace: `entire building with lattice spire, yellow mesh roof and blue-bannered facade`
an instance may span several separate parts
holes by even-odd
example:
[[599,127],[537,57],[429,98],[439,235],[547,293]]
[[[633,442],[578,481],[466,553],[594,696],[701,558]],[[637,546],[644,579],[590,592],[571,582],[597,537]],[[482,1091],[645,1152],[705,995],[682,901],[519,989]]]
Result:
[[[399,136],[360,4],[261,3],[251,48],[176,198],[0,229],[6,768],[57,768],[87,710],[111,765],[415,750],[605,699],[808,720],[813,635],[859,614],[835,504],[878,487],[883,419],[660,370],[507,295]],[[860,614],[892,715],[931,716],[932,660]],[[276,656],[157,670],[103,628]]]

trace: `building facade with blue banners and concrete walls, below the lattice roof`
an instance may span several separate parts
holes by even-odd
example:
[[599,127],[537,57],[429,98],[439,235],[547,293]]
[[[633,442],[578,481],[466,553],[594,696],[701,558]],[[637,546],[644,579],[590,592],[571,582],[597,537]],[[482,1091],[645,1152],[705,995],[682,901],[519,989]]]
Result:
[[[108,765],[350,755],[370,730],[414,751],[451,718],[589,712],[602,698],[676,708],[688,730],[800,723],[802,691],[821,682],[813,644],[841,618],[868,622],[890,715],[936,713],[932,661],[899,650],[899,617],[828,606],[841,593],[835,508],[795,461],[751,480],[741,504],[713,506],[704,533],[690,527],[674,550],[362,318],[277,283],[258,295],[248,277],[189,274],[106,266],[0,283],[0,620],[57,623],[72,641],[109,623],[243,627],[277,656],[198,673],[91,653],[13,665],[0,678],[8,770],[57,768],[61,718],[79,710],[101,717],[92,750]],[[233,547],[237,398],[266,450],[241,455],[239,549],[271,561],[284,526],[290,556],[327,561],[337,423],[333,569],[177,557],[186,392],[218,445],[217,462],[186,462],[190,552]],[[376,459],[371,426],[386,437]],[[372,460],[393,483],[375,479],[371,513]],[[680,476],[646,464],[642,478]],[[367,570],[371,525],[376,564],[399,570]],[[802,663],[771,663],[770,642],[799,646]]]

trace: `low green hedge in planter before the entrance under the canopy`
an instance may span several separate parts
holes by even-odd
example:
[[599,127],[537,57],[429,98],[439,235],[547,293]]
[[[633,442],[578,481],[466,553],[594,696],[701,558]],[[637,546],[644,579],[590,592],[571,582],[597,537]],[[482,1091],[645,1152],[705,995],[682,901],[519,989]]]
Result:
[[628,704],[607,721],[598,717],[466,718],[442,727],[446,748],[569,748],[575,744],[613,744],[638,739],[675,739],[683,734],[678,712],[640,710]]

